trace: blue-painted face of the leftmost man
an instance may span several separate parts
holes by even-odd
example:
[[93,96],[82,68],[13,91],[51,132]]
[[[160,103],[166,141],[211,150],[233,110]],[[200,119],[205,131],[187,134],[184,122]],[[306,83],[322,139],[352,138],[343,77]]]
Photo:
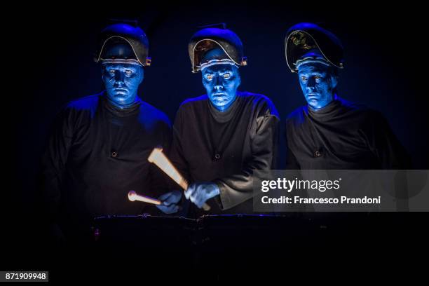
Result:
[[107,98],[116,107],[125,108],[137,100],[137,90],[144,78],[140,64],[103,64],[102,80]]

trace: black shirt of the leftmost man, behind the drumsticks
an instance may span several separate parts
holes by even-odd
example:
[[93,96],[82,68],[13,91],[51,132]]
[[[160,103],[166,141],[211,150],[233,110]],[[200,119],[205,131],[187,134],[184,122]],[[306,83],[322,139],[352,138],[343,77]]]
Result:
[[42,159],[50,216],[80,224],[104,214],[157,212],[127,194],[157,197],[165,191],[147,158],[158,145],[168,149],[170,130],[168,117],[142,100],[119,109],[101,93],[68,104]]

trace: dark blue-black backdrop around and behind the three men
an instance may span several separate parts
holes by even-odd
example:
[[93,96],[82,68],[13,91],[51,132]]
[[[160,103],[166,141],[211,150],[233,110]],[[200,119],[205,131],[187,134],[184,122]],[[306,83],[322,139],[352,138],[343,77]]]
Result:
[[[305,104],[297,74],[292,74],[285,62],[286,31],[297,22],[318,23],[339,36],[345,48],[339,96],[381,111],[411,154],[414,168],[429,169],[428,32],[422,6],[362,2],[334,6],[307,2],[135,6],[124,2],[115,5],[121,11],[114,12],[89,12],[83,6],[71,10],[69,6],[57,4],[38,13],[20,11],[6,26],[17,31],[6,42],[18,43],[18,48],[9,45],[6,55],[22,60],[15,63],[20,74],[13,76],[18,80],[14,83],[18,95],[13,95],[8,109],[13,117],[4,121],[7,126],[13,123],[15,132],[14,171],[8,179],[18,198],[19,204],[11,212],[20,222],[20,231],[33,223],[39,158],[55,114],[70,100],[102,90],[100,67],[93,62],[93,53],[97,33],[109,24],[109,18],[138,20],[149,36],[152,65],[145,69],[139,95],[168,114],[171,121],[183,100],[205,93],[200,74],[191,73],[187,50],[196,27],[226,22],[240,36],[248,58],[247,67],[240,69],[240,90],[270,97],[284,120]],[[281,144],[284,149],[283,138]],[[284,152],[280,156],[284,165]]]

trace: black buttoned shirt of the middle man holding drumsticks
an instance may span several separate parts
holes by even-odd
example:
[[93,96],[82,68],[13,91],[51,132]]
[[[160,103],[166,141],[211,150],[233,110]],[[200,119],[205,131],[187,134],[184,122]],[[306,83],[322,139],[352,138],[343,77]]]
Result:
[[207,200],[209,213],[250,213],[253,171],[275,168],[278,124],[264,95],[238,92],[224,112],[207,95],[192,98],[177,112],[170,158],[189,182],[219,186],[220,195]]

